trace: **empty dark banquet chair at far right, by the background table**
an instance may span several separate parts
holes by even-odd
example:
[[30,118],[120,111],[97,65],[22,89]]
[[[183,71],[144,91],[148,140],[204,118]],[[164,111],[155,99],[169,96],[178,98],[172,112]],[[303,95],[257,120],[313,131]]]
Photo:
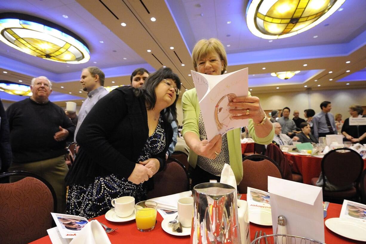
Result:
[[[347,152],[344,152],[347,151]],[[338,148],[328,152],[321,161],[323,199],[329,202],[343,202],[343,199],[359,201],[359,182],[363,170],[363,159],[358,152],[349,148]],[[311,179],[316,185],[318,177]],[[326,182],[336,188],[350,189],[326,191]]]

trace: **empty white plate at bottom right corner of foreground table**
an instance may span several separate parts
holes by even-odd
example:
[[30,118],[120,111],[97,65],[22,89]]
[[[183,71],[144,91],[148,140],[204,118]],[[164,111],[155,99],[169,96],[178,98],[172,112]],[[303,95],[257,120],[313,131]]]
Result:
[[366,223],[346,218],[330,218],[325,226],[333,232],[356,241],[366,241]]

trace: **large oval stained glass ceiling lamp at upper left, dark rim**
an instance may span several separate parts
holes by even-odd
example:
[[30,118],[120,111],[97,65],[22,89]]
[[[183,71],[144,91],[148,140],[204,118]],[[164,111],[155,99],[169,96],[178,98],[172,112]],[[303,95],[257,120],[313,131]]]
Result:
[[44,19],[26,14],[0,14],[0,41],[19,51],[62,63],[85,63],[87,44],[76,34]]

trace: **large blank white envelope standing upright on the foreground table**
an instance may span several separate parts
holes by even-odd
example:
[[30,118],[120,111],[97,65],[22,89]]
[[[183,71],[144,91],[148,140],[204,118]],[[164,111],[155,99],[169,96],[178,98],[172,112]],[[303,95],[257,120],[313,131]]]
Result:
[[287,234],[324,242],[323,191],[321,187],[268,176],[273,233],[284,215]]

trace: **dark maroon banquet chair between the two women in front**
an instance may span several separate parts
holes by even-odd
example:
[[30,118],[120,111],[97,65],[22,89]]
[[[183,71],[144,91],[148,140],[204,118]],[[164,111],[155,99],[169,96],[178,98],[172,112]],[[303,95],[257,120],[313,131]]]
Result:
[[189,178],[182,163],[175,158],[168,158],[167,164],[162,171],[153,176],[154,189],[147,192],[147,199],[172,195],[188,191]]

